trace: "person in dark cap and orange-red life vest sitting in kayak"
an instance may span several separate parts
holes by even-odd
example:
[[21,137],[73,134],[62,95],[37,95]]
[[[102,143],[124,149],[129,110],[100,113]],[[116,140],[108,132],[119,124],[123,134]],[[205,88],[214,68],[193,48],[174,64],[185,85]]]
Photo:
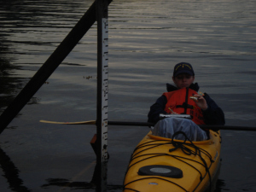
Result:
[[174,67],[173,83],[166,84],[165,92],[150,107],[148,122],[156,124],[160,113],[190,114],[196,125],[224,125],[224,112],[207,93],[198,93],[199,85],[194,84],[193,67],[186,62]]

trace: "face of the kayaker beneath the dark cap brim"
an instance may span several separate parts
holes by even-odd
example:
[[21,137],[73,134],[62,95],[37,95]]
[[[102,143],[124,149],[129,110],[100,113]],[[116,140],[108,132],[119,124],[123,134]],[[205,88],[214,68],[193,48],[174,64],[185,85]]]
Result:
[[195,80],[195,76],[188,73],[180,73],[176,77],[172,77],[173,83],[176,84],[178,89],[189,87]]

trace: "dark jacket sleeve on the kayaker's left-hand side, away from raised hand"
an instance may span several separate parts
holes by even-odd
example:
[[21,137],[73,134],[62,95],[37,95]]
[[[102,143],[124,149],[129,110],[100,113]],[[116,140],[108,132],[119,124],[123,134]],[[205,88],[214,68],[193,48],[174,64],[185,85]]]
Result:
[[166,96],[160,96],[156,102],[150,107],[149,113],[148,113],[148,122],[156,124],[160,120],[160,113],[166,114],[165,108],[166,108],[167,99]]

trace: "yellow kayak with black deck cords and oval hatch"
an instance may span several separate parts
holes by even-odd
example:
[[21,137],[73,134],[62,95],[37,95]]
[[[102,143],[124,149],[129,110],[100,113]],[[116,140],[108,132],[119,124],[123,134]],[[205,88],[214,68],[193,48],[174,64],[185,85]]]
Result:
[[191,142],[148,135],[131,154],[124,191],[206,191],[220,167],[221,137]]

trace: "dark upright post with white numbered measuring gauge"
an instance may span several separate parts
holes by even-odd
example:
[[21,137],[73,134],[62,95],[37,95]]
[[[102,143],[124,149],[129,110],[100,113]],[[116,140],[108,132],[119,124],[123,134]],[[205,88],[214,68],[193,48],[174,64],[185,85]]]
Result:
[[108,162],[108,0],[96,0],[97,20],[97,191],[106,191]]

